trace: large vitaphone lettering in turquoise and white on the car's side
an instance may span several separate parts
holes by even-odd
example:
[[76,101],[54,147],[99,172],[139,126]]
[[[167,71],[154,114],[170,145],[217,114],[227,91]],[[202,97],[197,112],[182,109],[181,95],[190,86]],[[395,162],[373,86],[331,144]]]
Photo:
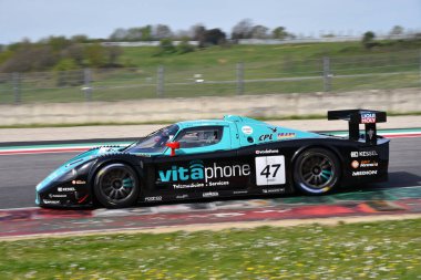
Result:
[[250,166],[244,165],[225,165],[218,166],[214,163],[212,166],[205,166],[202,160],[193,160],[188,168],[173,165],[171,169],[158,170],[161,182],[179,182],[179,180],[205,180],[229,178],[235,176],[250,175]]

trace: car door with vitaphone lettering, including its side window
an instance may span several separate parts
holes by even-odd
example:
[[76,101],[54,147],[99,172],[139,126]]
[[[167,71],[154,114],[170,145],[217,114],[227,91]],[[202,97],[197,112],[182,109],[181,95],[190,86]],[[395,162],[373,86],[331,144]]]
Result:
[[228,125],[182,129],[174,137],[179,143],[176,155],[154,159],[155,188],[176,198],[217,197],[247,188],[251,163],[238,157],[232,141]]

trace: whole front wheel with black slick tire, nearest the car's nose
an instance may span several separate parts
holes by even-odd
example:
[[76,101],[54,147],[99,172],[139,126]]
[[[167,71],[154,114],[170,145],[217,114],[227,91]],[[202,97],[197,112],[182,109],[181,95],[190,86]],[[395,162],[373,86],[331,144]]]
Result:
[[101,167],[93,190],[97,201],[106,208],[133,206],[141,191],[136,173],[129,165],[120,163]]

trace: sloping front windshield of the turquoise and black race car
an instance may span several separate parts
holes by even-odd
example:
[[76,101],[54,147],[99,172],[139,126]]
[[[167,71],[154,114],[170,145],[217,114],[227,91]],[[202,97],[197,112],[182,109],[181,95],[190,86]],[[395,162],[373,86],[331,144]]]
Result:
[[177,132],[178,125],[166,126],[140,139],[133,147],[129,147],[126,152],[163,153],[166,148],[165,144],[172,141]]

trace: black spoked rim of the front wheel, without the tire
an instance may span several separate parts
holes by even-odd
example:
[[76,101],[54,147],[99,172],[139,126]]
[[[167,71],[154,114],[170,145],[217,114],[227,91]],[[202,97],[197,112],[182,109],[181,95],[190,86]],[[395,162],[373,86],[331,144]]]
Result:
[[110,166],[100,178],[101,194],[113,204],[121,204],[131,198],[135,188],[135,177],[124,166]]

